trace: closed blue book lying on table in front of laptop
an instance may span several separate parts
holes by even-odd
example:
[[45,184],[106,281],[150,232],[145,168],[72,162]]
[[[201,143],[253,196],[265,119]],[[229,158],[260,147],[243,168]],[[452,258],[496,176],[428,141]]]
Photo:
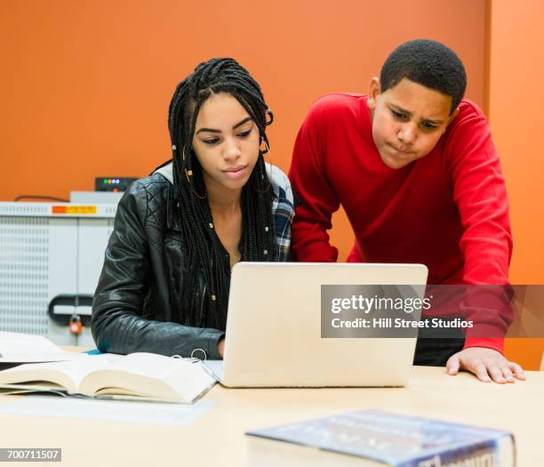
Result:
[[429,418],[366,410],[246,434],[354,455],[394,467],[513,467],[514,437]]

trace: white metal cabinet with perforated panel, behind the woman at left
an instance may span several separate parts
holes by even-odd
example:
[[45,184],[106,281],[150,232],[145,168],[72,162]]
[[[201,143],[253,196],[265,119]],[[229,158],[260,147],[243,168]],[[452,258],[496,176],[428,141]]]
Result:
[[[116,203],[0,202],[0,331],[94,346],[90,304],[115,215]],[[68,330],[73,314],[82,334]]]

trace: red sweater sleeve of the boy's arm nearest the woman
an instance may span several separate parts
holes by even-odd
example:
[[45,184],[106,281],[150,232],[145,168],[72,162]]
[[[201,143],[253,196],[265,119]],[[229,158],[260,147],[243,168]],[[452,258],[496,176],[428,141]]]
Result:
[[309,110],[295,141],[289,178],[295,199],[292,252],[300,262],[335,262],[338,249],[329,243],[332,213],[340,201],[327,180],[324,99]]

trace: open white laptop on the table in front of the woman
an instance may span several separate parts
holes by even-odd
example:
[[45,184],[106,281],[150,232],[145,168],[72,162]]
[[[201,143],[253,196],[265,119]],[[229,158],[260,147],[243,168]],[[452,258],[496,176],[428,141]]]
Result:
[[422,264],[239,262],[225,356],[205,365],[227,387],[404,386],[416,337],[322,337],[322,286],[421,286],[422,298],[427,275]]

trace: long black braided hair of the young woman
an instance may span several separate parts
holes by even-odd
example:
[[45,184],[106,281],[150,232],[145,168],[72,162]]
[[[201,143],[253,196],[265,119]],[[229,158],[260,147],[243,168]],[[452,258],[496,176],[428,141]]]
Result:
[[[168,112],[168,128],[172,140],[173,181],[176,205],[186,243],[184,261],[190,280],[204,269],[206,292],[204,313],[188,305],[183,321],[191,326],[213,326],[224,329],[227,321],[230,265],[225,249],[213,229],[210,205],[205,197],[202,167],[193,150],[196,117],[212,93],[228,93],[247,111],[259,129],[259,157],[248,182],[242,189],[241,261],[277,261],[278,252],[272,214],[273,190],[266,172],[263,154],[268,151],[266,126],[273,121],[260,86],[245,68],[229,58],[200,63],[195,71],[177,86]],[[184,274],[187,278],[187,273]],[[184,285],[184,288],[188,284]],[[196,290],[191,287],[191,293]]]

